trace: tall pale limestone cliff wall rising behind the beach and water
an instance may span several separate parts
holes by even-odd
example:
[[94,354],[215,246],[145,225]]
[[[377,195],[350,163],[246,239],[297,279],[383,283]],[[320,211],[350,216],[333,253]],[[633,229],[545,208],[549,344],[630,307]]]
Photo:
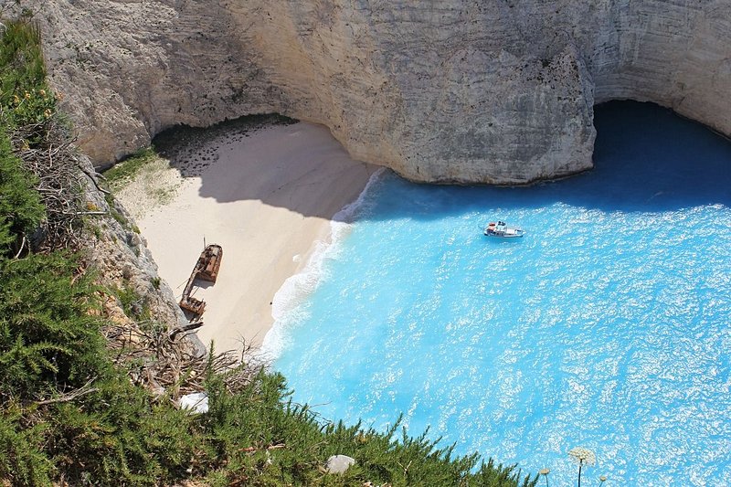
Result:
[[177,123],[272,111],[440,183],[591,167],[602,101],[654,101],[731,133],[731,0],[31,4],[97,165]]

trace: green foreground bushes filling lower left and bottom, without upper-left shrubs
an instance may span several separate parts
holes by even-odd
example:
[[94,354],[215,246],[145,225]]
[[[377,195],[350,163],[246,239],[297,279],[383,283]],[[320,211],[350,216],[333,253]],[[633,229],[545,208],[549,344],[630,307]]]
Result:
[[[62,255],[0,267],[0,478],[16,484],[516,485],[519,472],[452,458],[426,436],[318,422],[286,399],[283,377],[260,372],[232,394],[207,378],[210,411],[155,400],[111,366],[90,314],[93,284]],[[6,285],[5,285],[6,284]],[[75,396],[76,395],[76,396]],[[323,473],[330,455],[356,465]],[[529,485],[527,479],[524,485]]]

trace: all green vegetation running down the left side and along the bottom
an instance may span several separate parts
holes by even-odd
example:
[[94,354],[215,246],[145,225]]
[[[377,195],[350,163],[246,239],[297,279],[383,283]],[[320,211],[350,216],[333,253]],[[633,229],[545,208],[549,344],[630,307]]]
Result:
[[[55,221],[49,217],[50,205],[57,204],[52,195],[60,193],[38,188],[48,179],[51,164],[27,167],[28,161],[37,161],[27,155],[51,153],[44,143],[58,135],[50,132],[58,128],[53,122],[58,114],[46,85],[37,30],[24,21],[4,24],[0,482],[535,485],[535,478],[514,467],[485,464],[477,455],[453,458],[450,448],[441,449],[426,435],[399,436],[397,424],[378,433],[359,425],[323,423],[306,406],[287,400],[282,376],[263,370],[234,382],[229,379],[240,370],[221,375],[209,366],[210,409],[201,415],[175,407],[175,387],[155,397],[134,385],[130,374],[139,364],[115,365],[101,334],[101,289],[84,270],[81,249],[74,251],[69,245],[74,240],[61,235],[76,231],[80,223],[65,220],[54,231],[48,229]],[[73,178],[64,181],[73,187],[64,188],[69,196],[58,215],[83,213],[73,211],[79,210],[80,198],[74,195],[80,188]],[[58,238],[63,245],[54,244]],[[327,474],[323,462],[333,454],[350,455],[356,464],[343,475]]]

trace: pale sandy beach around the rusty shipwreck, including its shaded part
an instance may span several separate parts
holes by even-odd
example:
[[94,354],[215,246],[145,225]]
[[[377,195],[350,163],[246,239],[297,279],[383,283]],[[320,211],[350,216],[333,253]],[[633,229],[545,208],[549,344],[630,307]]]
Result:
[[223,247],[216,284],[193,293],[207,302],[198,336],[219,352],[260,345],[275,293],[330,238],[331,219],[377,167],[351,159],[325,127],[304,122],[218,131],[190,147],[118,197],[178,299],[204,239]]

